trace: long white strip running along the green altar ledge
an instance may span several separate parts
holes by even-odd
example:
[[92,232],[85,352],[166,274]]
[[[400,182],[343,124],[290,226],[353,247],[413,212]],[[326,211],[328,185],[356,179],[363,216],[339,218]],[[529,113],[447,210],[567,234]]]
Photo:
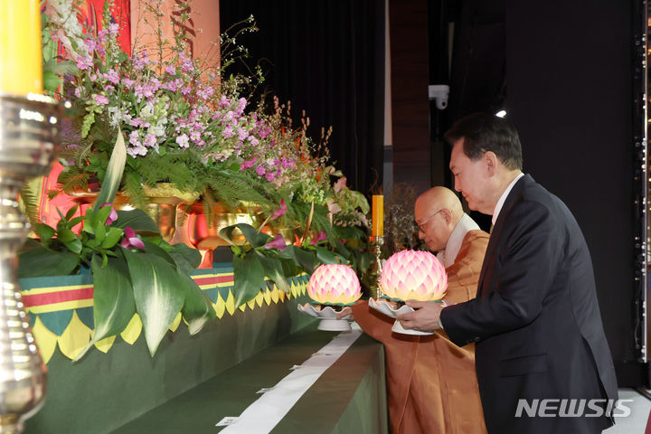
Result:
[[292,373],[244,410],[236,421],[222,429],[221,434],[266,434],[273,429],[321,374],[362,335],[359,325],[352,325],[352,332],[336,335],[318,353],[296,366]]

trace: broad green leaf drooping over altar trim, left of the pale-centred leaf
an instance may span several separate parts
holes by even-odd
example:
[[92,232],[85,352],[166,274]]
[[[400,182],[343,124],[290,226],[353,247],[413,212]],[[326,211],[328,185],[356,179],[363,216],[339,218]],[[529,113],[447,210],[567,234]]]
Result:
[[[102,265],[106,263],[106,265]],[[103,258],[93,255],[90,266],[93,275],[93,319],[95,332],[90,343],[81,350],[79,360],[90,347],[105,337],[118,335],[136,313],[129,270],[123,257]]]

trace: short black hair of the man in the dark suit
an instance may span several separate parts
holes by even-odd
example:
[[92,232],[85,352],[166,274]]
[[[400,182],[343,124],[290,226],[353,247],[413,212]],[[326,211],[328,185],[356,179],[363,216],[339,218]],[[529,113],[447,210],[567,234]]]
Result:
[[444,137],[450,145],[463,138],[464,154],[473,161],[493,151],[506,168],[522,170],[520,137],[513,124],[504,118],[491,113],[474,113],[458,119]]

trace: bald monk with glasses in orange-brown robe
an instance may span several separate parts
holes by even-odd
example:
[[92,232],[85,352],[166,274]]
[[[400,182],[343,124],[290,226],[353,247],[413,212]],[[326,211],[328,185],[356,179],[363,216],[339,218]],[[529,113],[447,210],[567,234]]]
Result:
[[[444,187],[422,193],[414,207],[419,237],[448,273],[443,299],[456,304],[476,296],[488,234]],[[475,372],[474,344],[458,347],[445,332],[434,335],[392,333],[393,319],[368,307],[353,307],[363,331],[382,342],[386,352],[389,419],[393,434],[486,433]]]

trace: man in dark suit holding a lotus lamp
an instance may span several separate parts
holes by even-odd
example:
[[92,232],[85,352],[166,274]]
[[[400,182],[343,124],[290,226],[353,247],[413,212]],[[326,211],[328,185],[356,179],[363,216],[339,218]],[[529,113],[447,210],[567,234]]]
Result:
[[444,308],[410,301],[417,310],[398,319],[476,343],[489,433],[601,432],[612,425],[617,381],[579,225],[522,173],[520,139],[505,119],[470,115],[446,139],[456,190],[493,215],[477,297]]

